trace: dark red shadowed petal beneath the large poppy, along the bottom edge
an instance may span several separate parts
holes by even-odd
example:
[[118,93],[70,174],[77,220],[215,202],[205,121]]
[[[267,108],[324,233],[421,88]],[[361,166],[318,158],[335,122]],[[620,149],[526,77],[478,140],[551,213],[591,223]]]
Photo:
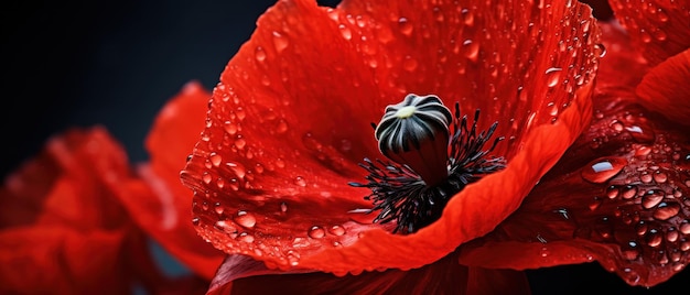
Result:
[[[261,262],[230,256],[207,294],[529,294],[522,272],[467,269],[452,254],[411,271],[387,270],[359,275],[276,273]],[[254,265],[247,267],[247,265]],[[223,283],[220,283],[223,282]]]

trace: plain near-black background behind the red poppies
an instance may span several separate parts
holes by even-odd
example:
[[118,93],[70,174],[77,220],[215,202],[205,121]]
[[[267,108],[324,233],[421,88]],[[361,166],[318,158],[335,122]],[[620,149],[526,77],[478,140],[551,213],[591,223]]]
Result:
[[[212,89],[227,61],[249,39],[257,18],[273,2],[4,4],[2,177],[37,153],[50,135],[75,125],[107,127],[130,160],[144,161],[143,139],[163,103],[192,79]],[[179,273],[180,266],[160,251],[164,265]],[[684,271],[646,289],[627,286],[596,263],[528,274],[535,294],[668,294],[689,276]]]

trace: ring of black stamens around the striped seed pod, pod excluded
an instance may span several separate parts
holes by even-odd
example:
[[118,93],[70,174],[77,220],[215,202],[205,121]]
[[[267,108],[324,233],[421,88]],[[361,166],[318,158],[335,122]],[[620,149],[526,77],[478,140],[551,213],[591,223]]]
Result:
[[450,139],[448,168],[445,181],[428,186],[424,181],[407,164],[393,162],[376,162],[365,159],[359,166],[368,172],[367,183],[349,183],[354,187],[366,187],[371,194],[365,199],[371,200],[374,207],[369,212],[378,211],[374,222],[388,223],[396,221],[393,233],[412,233],[441,217],[443,208],[451,197],[467,184],[483,176],[500,171],[506,161],[500,156],[488,156],[498,142],[494,140],[489,149],[483,150],[498,127],[494,122],[488,130],[477,134],[479,110],[474,114],[474,122],[468,127],[467,116],[461,118],[460,105],[455,103],[455,114]]

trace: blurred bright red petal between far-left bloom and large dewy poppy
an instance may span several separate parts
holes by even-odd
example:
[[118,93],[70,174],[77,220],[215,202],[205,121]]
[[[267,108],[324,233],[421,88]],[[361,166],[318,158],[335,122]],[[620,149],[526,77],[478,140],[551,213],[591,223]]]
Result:
[[225,254],[192,227],[192,194],[180,183],[180,170],[198,138],[208,97],[201,84],[192,81],[165,105],[147,139],[150,164],[141,165],[139,177],[123,182],[118,192],[137,225],[206,280],[214,276]]

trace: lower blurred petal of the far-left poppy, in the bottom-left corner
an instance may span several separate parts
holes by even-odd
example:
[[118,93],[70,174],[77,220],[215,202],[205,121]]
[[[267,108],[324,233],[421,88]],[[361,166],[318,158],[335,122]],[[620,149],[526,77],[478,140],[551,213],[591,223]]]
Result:
[[120,243],[125,231],[68,227],[0,231],[2,294],[126,294]]

